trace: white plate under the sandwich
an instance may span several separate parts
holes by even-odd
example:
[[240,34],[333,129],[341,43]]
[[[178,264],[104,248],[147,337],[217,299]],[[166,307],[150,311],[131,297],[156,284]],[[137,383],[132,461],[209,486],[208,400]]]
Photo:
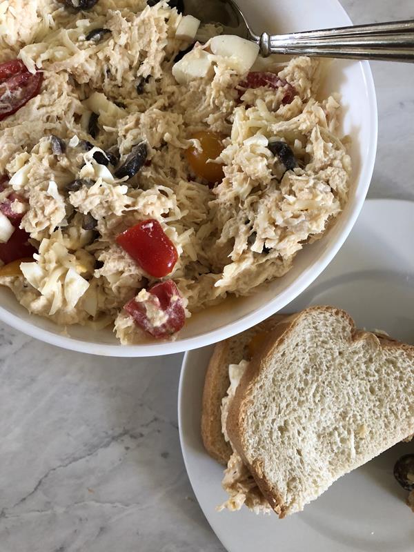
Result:
[[[380,328],[414,343],[414,203],[367,201],[331,265],[284,311],[310,304],[345,308],[359,327]],[[412,552],[414,513],[393,465],[414,452],[403,443],[335,482],[316,502],[285,520],[246,508],[217,513],[222,468],[204,451],[201,393],[213,346],[190,351],[179,385],[179,431],[188,477],[201,509],[229,552]]]

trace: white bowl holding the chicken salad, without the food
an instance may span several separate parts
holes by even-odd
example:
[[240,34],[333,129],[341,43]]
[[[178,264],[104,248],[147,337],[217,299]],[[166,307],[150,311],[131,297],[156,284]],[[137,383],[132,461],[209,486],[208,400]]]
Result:
[[[337,0],[238,0],[253,29],[289,32],[351,24]],[[270,24],[270,21],[273,23]],[[355,224],[371,181],[377,148],[377,102],[368,62],[335,61],[324,93],[340,92],[345,107],[343,130],[351,135],[353,178],[349,201],[335,226],[306,246],[284,277],[262,286],[250,297],[229,299],[188,320],[174,342],[121,346],[110,331],[70,326],[29,315],[12,293],[0,289],[0,319],[44,342],[95,355],[144,357],[179,353],[230,337],[276,313],[302,293],[326,268]]]

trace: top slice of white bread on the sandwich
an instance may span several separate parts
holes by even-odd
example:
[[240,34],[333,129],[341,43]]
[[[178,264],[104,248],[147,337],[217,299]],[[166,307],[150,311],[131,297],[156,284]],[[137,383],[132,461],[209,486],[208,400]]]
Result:
[[414,432],[414,347],[308,308],[250,362],[226,430],[280,517],[300,511]]

